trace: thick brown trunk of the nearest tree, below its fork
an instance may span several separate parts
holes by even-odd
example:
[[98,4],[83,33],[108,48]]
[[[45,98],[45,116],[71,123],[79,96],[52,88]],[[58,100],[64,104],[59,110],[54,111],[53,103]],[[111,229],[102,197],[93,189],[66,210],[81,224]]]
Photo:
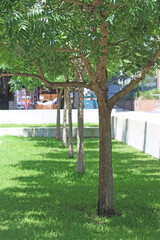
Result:
[[98,215],[115,214],[113,201],[111,109],[107,103],[99,104],[99,193]]

